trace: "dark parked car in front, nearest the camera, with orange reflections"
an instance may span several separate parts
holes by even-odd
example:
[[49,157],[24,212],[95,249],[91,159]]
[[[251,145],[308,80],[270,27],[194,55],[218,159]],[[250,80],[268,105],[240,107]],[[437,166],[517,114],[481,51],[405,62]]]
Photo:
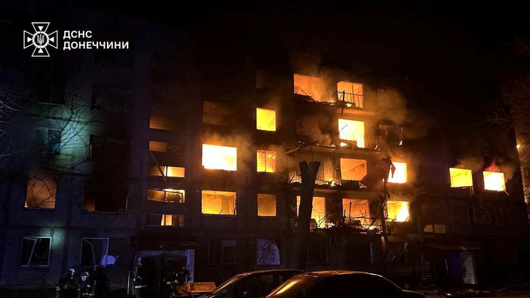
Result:
[[327,297],[425,297],[420,292],[402,290],[392,281],[368,272],[315,271],[285,281],[266,298],[327,298]]

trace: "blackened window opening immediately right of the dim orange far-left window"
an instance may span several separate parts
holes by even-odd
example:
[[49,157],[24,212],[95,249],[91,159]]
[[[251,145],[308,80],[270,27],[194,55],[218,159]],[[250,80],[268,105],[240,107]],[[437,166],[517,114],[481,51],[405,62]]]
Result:
[[125,212],[128,183],[122,172],[106,172],[85,183],[86,211]]

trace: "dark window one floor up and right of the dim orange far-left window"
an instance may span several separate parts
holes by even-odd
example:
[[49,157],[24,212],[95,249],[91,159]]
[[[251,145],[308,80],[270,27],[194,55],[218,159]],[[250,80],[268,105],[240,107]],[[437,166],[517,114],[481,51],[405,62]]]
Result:
[[128,159],[128,141],[119,138],[90,135],[88,155],[92,160],[126,161]]

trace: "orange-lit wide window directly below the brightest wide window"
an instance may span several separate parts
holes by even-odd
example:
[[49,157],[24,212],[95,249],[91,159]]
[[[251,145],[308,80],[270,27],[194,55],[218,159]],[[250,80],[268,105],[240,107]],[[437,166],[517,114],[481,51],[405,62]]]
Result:
[[202,214],[235,215],[235,192],[203,190]]

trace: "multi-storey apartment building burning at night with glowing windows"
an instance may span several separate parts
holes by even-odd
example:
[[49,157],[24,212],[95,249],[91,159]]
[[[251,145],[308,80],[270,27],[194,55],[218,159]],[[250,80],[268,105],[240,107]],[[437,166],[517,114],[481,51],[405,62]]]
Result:
[[[295,249],[305,270],[402,284],[524,271],[524,200],[507,179],[517,173],[458,162],[442,130],[408,138],[416,128],[400,86],[271,66],[247,48],[211,52],[179,30],[83,11],[63,10],[61,26],[99,16],[108,22],[92,30],[120,32],[133,48],[3,63],[19,74],[6,86],[29,90],[16,96],[29,104],[6,130],[1,286],[52,287],[68,268],[99,264],[127,288],[139,262],[155,286],[183,266],[192,281],[219,284],[290,268]],[[6,39],[25,26],[0,24]],[[384,178],[363,183],[388,157]],[[320,167],[308,241],[295,248],[302,161]]]

